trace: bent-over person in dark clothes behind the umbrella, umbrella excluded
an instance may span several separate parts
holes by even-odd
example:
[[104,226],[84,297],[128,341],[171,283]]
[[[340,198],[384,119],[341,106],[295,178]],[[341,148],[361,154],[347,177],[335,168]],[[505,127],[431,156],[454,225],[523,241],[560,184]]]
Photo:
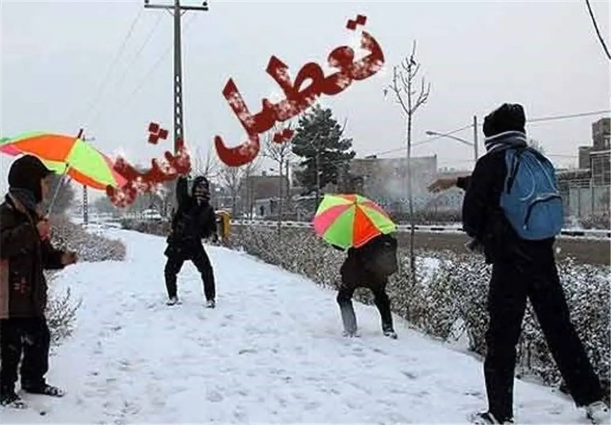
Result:
[[[337,245],[332,246],[343,251]],[[369,288],[380,313],[382,332],[390,338],[397,338],[392,324],[390,299],[386,294],[388,277],[397,270],[397,239],[389,234],[376,236],[362,247],[348,249],[348,256],[340,267],[342,282],[337,294],[345,336],[357,335],[356,315],[352,305],[354,291],[356,288]]]

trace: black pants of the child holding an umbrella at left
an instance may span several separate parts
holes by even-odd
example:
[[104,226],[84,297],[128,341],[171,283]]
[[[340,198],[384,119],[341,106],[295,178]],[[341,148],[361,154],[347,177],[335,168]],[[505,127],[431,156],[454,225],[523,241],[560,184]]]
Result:
[[21,387],[45,384],[49,370],[51,333],[45,318],[0,320],[0,386],[2,392],[14,391],[21,354]]

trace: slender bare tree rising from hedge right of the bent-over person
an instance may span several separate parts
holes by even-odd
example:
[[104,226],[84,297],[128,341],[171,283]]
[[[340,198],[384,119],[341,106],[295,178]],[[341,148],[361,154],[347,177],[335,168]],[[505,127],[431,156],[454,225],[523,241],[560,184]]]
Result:
[[395,95],[395,101],[401,106],[401,112],[406,121],[406,139],[408,156],[408,197],[409,197],[409,269],[412,283],[415,282],[415,256],[414,256],[414,197],[412,194],[412,121],[415,112],[428,101],[431,92],[431,83],[425,78],[417,84],[416,78],[420,71],[420,64],[415,59],[416,41],[412,45],[412,53],[401,60],[399,65],[393,67],[392,82],[384,88],[384,95],[390,90]]

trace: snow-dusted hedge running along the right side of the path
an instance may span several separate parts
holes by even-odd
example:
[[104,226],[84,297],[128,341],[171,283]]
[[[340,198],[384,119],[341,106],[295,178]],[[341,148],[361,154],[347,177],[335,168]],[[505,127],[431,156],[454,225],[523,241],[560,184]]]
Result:
[[[238,227],[233,231],[232,244],[267,263],[305,275],[319,285],[334,288],[339,282],[344,254],[309,231],[282,229],[279,236],[274,228]],[[417,283],[412,284],[407,252],[400,250],[399,258],[400,272],[390,278],[388,287],[393,311],[428,335],[453,344],[466,341],[469,351],[484,355],[491,267],[467,252],[464,255],[419,252]],[[609,267],[565,261],[558,268],[573,323],[609,393]],[[356,297],[365,303],[372,302],[370,292],[365,290],[358,291]],[[523,329],[518,344],[518,374],[560,385],[560,373],[530,303]]]

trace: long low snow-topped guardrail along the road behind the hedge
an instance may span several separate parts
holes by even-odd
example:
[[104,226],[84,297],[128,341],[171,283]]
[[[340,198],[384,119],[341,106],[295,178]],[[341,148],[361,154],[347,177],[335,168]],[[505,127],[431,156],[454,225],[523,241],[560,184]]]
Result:
[[[277,221],[270,220],[232,220],[232,225],[251,225],[259,227],[277,227]],[[284,221],[280,222],[280,227],[295,227],[295,228],[312,228],[310,222]],[[400,224],[397,225],[399,231],[409,231],[410,226]],[[423,233],[463,233],[463,229],[459,226],[430,226],[430,225],[415,225],[414,230]],[[587,238],[587,239],[611,239],[610,230],[599,229],[563,229],[560,231],[560,238]]]

